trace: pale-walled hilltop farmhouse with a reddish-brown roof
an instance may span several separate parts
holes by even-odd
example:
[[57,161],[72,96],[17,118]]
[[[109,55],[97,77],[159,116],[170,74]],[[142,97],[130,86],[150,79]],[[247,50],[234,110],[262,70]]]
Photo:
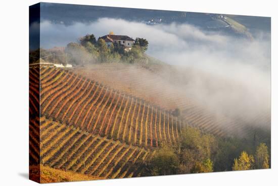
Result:
[[134,43],[135,43],[135,40],[133,40],[132,38],[130,38],[127,35],[108,34],[108,35],[102,36],[101,39],[103,39],[105,41],[105,43],[108,47],[110,47],[112,43],[118,43],[125,48],[124,49],[125,51],[129,51],[131,49],[132,45],[134,45]]

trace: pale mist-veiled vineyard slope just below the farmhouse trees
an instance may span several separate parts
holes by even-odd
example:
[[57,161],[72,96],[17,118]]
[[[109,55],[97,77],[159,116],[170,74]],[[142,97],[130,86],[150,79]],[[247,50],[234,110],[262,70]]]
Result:
[[204,132],[224,136],[226,134],[222,125],[224,119],[198,105],[194,99],[187,97],[184,91],[177,91],[175,86],[167,82],[167,77],[163,77],[164,72],[161,75],[155,72],[160,71],[159,67],[160,65],[158,68],[152,66],[146,69],[136,65],[97,64],[86,68],[74,68],[72,71],[120,89],[127,94],[144,98],[165,110],[180,108],[181,117],[187,124],[200,128]]

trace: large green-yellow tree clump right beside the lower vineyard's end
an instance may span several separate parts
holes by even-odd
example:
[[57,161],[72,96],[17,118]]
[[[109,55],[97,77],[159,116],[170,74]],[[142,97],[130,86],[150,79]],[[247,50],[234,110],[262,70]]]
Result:
[[146,174],[169,175],[212,172],[212,157],[216,154],[217,141],[212,135],[201,134],[198,129],[187,127],[177,146],[162,144],[160,150],[146,165]]

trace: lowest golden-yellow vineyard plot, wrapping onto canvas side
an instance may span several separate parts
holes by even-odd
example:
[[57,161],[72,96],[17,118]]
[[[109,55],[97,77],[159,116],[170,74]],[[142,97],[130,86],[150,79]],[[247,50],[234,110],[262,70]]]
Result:
[[[36,141],[39,137],[36,128],[40,129],[39,142]],[[140,170],[134,165],[149,159],[154,153],[45,117],[31,120],[30,133],[33,161],[38,163],[40,159],[43,166],[100,179],[136,176]]]

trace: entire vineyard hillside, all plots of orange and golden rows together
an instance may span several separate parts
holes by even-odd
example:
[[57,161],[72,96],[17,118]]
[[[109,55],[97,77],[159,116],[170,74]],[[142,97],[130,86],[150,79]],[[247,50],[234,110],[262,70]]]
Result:
[[[163,90],[157,85],[160,77],[152,75],[146,83],[132,75],[146,69],[123,68],[120,73],[130,78],[122,81],[104,76],[113,77],[120,69],[104,65],[90,70],[29,68],[29,158],[34,177],[39,177],[38,169],[42,175],[62,173],[68,180],[136,177],[163,143],[178,144],[186,126],[224,136],[219,125],[224,123],[226,130],[236,126],[243,132],[241,122],[216,117],[194,100],[175,97],[171,88]],[[180,116],[173,113],[176,107],[182,108]],[[253,121],[265,122],[265,115]]]

